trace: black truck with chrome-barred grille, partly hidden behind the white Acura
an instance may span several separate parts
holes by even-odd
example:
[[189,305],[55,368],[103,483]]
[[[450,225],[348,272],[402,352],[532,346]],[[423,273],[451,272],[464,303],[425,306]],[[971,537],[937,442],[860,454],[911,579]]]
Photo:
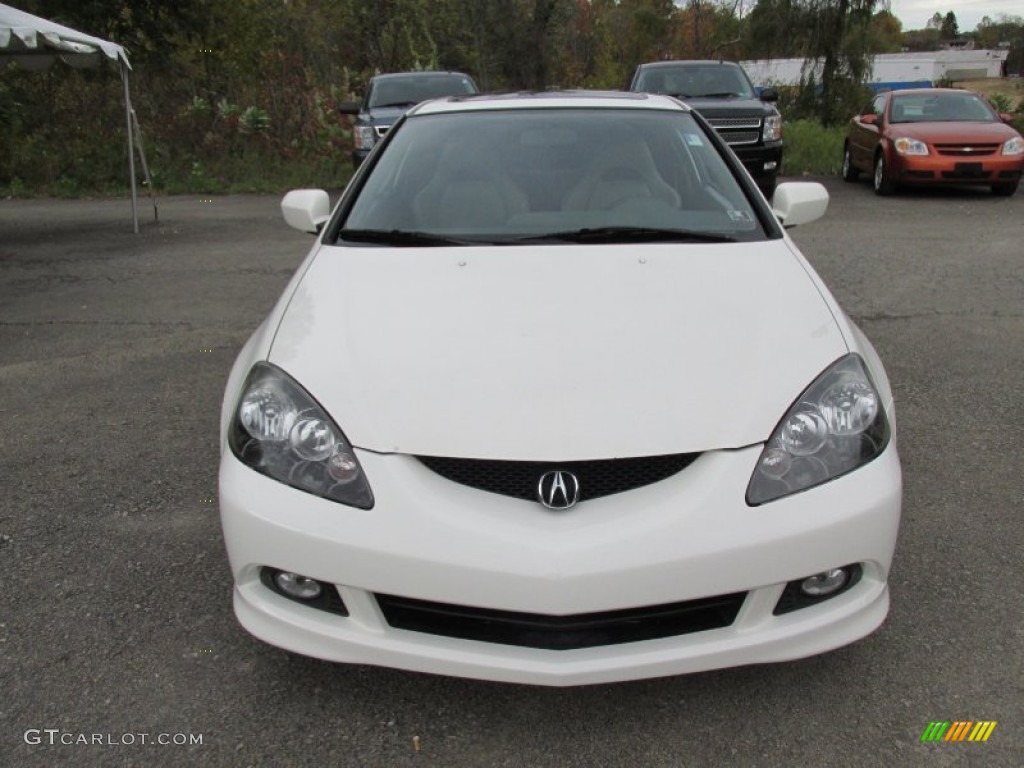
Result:
[[771,198],[782,167],[782,116],[773,88],[759,96],[732,61],[653,61],[637,67],[629,89],[667,93],[700,113]]

